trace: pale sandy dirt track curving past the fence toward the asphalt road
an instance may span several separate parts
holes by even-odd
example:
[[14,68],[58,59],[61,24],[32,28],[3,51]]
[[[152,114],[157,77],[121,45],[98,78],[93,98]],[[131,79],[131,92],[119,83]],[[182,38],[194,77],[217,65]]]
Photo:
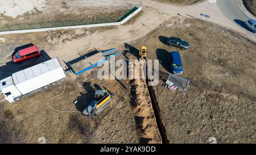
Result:
[[[60,60],[68,61],[75,58],[78,52],[83,51],[84,49],[91,49],[92,46],[94,48],[120,47],[123,43],[129,43],[140,37],[146,36],[152,30],[160,27],[160,24],[163,24],[177,14],[183,16],[183,18],[200,18],[200,13],[210,15],[210,18],[207,19],[209,22],[232,28],[250,39],[254,41],[256,40],[247,35],[245,31],[241,31],[241,29],[237,28],[232,22],[227,22],[226,18],[218,12],[216,4],[209,3],[209,1],[192,6],[174,6],[166,3],[145,0],[143,2],[143,12],[141,15],[125,26],[113,29],[110,28],[104,31],[96,31],[94,33],[88,31],[84,33],[82,30],[75,30],[75,33],[83,33],[79,39],[69,38],[70,36],[65,34],[61,34],[58,38],[58,32],[42,32],[38,33],[38,35],[48,35],[47,40],[54,44],[54,46],[48,45],[47,47],[44,47],[49,56],[59,57]],[[16,35],[2,35],[1,37],[8,41],[8,37],[12,36],[16,37]],[[50,38],[52,40],[50,40]],[[64,39],[69,41],[64,41],[63,43]]]

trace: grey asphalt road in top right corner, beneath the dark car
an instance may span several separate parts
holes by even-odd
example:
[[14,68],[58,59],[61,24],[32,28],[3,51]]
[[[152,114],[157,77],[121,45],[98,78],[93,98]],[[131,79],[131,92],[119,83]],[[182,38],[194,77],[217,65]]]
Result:
[[256,34],[248,30],[244,24],[246,20],[250,19],[249,16],[245,14],[238,6],[236,0],[218,0],[217,1],[218,10],[231,22],[237,24],[243,31],[248,33],[250,36],[256,38]]

